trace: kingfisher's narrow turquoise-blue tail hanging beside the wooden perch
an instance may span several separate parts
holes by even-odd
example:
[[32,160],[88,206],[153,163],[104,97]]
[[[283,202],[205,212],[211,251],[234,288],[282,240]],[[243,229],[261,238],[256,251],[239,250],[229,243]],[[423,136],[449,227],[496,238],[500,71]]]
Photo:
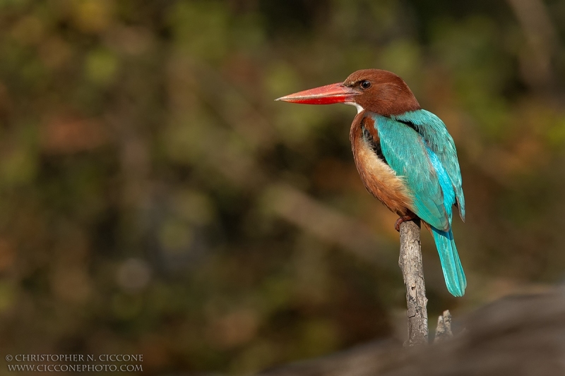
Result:
[[467,279],[457,254],[455,241],[453,241],[453,232],[451,229],[446,232],[432,227],[432,234],[436,241],[441,269],[444,269],[447,289],[453,296],[463,296],[465,287],[467,287]]

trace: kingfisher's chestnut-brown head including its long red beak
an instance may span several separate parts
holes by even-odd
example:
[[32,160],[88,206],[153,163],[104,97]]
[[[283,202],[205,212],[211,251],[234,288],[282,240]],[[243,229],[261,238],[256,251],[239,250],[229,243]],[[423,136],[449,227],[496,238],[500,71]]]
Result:
[[362,69],[343,83],[297,92],[277,100],[302,104],[352,104],[383,116],[420,109],[410,87],[398,75],[382,69]]

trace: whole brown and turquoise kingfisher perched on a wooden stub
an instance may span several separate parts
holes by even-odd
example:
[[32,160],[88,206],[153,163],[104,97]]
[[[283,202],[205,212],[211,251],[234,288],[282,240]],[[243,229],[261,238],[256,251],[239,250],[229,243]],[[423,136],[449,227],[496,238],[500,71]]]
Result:
[[463,296],[463,272],[451,222],[465,222],[465,197],[453,138],[438,116],[422,109],[405,81],[382,69],[362,69],[335,83],[280,97],[298,104],[357,107],[350,141],[355,166],[371,195],[398,214],[395,228],[420,218],[432,233],[446,287]]

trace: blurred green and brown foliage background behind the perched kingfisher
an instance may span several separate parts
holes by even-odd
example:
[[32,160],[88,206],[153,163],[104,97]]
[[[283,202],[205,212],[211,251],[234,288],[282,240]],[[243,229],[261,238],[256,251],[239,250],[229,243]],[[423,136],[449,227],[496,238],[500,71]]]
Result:
[[0,30],[0,353],[242,375],[402,336],[355,109],[273,102],[360,68],[458,147],[469,286],[422,233],[430,322],[565,277],[564,1],[1,0]]

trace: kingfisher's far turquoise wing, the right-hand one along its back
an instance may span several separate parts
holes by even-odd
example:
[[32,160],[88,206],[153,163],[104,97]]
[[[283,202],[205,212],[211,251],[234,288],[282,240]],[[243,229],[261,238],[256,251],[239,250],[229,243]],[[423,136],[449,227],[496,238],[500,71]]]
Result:
[[455,190],[461,219],[465,220],[465,196],[463,195],[463,181],[457,159],[457,150],[444,122],[432,112],[424,109],[394,115],[391,116],[391,119],[412,126],[422,136],[426,145],[436,154],[453,185],[453,190]]

